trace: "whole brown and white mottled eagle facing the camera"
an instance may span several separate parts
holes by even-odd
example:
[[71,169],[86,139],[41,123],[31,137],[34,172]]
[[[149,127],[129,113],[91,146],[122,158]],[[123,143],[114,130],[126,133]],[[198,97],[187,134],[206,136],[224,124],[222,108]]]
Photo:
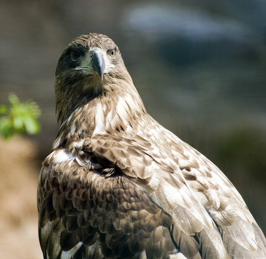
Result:
[[150,117],[110,38],[68,45],[55,95],[61,127],[37,193],[44,258],[266,258],[241,195]]

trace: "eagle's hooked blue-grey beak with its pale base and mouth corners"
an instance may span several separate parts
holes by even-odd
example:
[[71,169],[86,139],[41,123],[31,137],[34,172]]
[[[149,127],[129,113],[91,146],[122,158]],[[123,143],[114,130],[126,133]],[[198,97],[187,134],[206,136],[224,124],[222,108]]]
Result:
[[88,75],[98,75],[102,81],[103,74],[108,73],[108,68],[111,67],[114,67],[114,65],[106,65],[103,51],[100,48],[93,48],[89,51],[88,62],[85,62],[82,66],[77,66],[75,69],[86,70]]

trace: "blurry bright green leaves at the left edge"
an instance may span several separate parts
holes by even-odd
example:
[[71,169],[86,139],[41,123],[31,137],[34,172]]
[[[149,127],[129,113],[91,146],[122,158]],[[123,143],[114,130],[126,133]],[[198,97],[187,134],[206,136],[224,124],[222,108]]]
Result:
[[23,133],[36,134],[40,131],[38,117],[41,110],[36,102],[28,100],[21,103],[17,95],[8,96],[10,106],[0,105],[0,134],[8,139]]

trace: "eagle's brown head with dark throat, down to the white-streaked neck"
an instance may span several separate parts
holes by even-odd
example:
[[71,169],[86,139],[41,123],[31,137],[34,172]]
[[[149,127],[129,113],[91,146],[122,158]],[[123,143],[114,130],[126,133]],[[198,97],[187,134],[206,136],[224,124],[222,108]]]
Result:
[[109,37],[83,34],[61,54],[55,82],[59,122],[95,98],[113,98],[123,91],[136,90],[118,47]]

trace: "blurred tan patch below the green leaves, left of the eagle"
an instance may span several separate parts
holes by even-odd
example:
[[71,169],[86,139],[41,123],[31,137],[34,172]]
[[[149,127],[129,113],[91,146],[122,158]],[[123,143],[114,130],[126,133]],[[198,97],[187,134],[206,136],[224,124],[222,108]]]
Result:
[[0,139],[0,258],[43,258],[36,190],[41,164],[28,139]]

